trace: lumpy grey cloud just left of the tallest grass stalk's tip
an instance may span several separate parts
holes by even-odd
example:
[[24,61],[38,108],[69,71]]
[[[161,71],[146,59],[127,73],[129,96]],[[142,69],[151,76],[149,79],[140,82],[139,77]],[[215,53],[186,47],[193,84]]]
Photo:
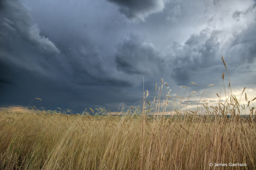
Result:
[[218,34],[208,28],[191,35],[184,45],[174,42],[169,55],[172,58],[172,77],[177,84],[189,84],[195,72],[216,64],[219,47]]

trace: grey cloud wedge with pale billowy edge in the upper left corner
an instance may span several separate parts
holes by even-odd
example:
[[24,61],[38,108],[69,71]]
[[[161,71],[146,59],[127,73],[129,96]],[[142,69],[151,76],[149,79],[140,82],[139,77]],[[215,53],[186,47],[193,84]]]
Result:
[[19,1],[0,1],[0,43],[18,34],[42,52],[59,53],[59,49],[46,37],[40,35],[38,24],[34,23],[30,12]]

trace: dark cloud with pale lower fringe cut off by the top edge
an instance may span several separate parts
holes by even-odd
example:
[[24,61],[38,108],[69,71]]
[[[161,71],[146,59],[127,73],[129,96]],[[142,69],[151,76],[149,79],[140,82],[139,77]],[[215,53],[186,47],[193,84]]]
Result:
[[119,11],[132,20],[142,20],[154,13],[159,13],[164,9],[165,0],[108,0],[116,3],[120,8]]

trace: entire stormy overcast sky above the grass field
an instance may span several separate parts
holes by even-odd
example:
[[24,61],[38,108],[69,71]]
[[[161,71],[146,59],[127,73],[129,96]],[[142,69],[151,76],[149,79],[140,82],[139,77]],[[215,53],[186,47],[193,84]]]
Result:
[[0,107],[40,98],[31,105],[127,109],[142,99],[144,77],[148,101],[163,78],[171,89],[167,110],[179,86],[189,86],[185,99],[196,91],[188,102],[195,109],[210,84],[201,101],[218,101],[223,72],[228,96],[221,56],[232,93],[240,99],[246,86],[251,100],[255,23],[253,0],[0,0]]

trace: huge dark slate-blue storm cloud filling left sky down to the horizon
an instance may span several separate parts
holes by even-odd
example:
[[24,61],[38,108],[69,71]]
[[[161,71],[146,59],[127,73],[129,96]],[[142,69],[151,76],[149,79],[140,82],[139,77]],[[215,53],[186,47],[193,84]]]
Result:
[[[133,84],[131,78],[106,62],[109,59],[104,58],[101,44],[93,42],[88,34],[81,36],[84,30],[78,30],[80,35],[69,32],[68,27],[63,28],[63,23],[52,25],[57,27],[56,31],[43,29],[40,32],[39,24],[19,1],[1,1],[1,6],[2,106],[10,103],[26,106],[38,97],[43,101],[35,103],[48,109],[61,107],[80,111],[84,107],[101,105],[98,103],[112,96],[101,106],[110,103],[111,109],[116,109],[114,100],[119,98],[120,101],[122,96],[111,92]],[[51,41],[41,35],[47,35]]]

